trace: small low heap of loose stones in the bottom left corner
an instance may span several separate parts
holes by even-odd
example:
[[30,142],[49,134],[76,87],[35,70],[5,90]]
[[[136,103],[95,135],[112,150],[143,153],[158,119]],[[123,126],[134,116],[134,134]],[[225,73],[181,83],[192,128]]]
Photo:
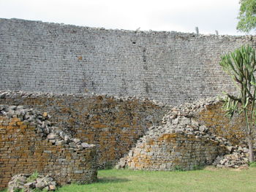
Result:
[[33,174],[16,174],[8,183],[8,192],[32,192],[36,189],[42,191],[56,190],[56,181],[49,175],[38,174],[35,178],[31,177]]

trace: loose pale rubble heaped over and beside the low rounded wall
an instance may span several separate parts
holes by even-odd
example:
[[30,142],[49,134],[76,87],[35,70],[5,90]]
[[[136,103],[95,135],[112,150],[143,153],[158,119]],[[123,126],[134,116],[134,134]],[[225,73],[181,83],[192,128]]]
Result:
[[[248,148],[246,146],[232,146],[224,137],[218,137],[212,134],[205,125],[200,125],[195,119],[195,112],[205,109],[208,105],[217,104],[219,102],[215,98],[200,99],[193,103],[181,104],[178,107],[173,107],[162,118],[162,126],[152,126],[146,134],[138,139],[135,147],[133,147],[129,154],[121,158],[116,169],[121,169],[127,166],[129,161],[132,161],[133,155],[136,150],[142,148],[148,140],[161,137],[164,134],[186,134],[194,135],[196,138],[205,138],[211,142],[217,142],[220,147],[225,147],[225,153],[219,154],[214,165],[217,167],[233,167],[246,166],[249,162]],[[143,153],[143,152],[142,152]]]

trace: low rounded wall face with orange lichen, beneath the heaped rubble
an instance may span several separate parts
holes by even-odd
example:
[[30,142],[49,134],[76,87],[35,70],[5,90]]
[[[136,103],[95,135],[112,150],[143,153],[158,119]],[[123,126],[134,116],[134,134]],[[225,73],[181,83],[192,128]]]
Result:
[[219,142],[192,134],[162,134],[146,139],[131,151],[132,158],[127,161],[130,169],[143,170],[191,170],[210,165],[225,148]]

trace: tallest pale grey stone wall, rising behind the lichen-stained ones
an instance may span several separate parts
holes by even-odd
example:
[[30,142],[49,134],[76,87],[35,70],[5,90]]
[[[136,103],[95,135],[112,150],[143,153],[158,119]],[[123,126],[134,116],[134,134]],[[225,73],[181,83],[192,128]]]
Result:
[[255,38],[0,19],[0,90],[143,96],[181,104],[234,91],[220,55]]

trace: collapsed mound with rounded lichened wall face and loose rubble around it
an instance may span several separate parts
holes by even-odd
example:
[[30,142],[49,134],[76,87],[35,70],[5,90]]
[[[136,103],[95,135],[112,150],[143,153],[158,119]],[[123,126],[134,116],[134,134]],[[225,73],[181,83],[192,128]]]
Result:
[[162,119],[163,126],[151,127],[116,168],[190,170],[210,164],[218,167],[247,164],[246,147],[232,146],[195,119],[195,113],[217,103],[216,99],[201,99],[173,107]]

